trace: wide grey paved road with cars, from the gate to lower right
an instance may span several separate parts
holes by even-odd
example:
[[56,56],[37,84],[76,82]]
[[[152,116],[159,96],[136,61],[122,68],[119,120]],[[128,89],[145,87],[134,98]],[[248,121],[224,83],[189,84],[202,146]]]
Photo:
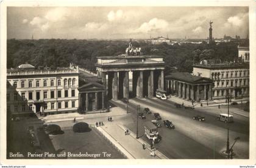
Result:
[[[116,106],[126,109],[123,102],[115,101]],[[227,124],[216,120],[218,107],[208,109],[179,109],[171,101],[160,99],[138,99],[129,100],[129,111],[132,112],[133,124],[128,124],[133,132],[136,132],[136,109],[140,104],[141,111],[144,107],[149,107],[152,112],[158,112],[162,119],[169,119],[176,126],[176,129],[169,130],[162,126],[159,130],[162,135],[162,141],[157,144],[158,150],[169,158],[186,159],[222,159],[220,155],[222,150],[226,150]],[[210,110],[209,110],[210,109]],[[146,119],[139,119],[139,134],[147,140],[144,134],[144,123],[154,119],[152,115],[146,115]],[[205,116],[205,122],[194,121],[192,118],[196,115]],[[230,146],[236,136],[240,140],[233,147],[236,158],[249,157],[249,118],[240,115],[234,115],[235,123],[229,124],[230,127]]]

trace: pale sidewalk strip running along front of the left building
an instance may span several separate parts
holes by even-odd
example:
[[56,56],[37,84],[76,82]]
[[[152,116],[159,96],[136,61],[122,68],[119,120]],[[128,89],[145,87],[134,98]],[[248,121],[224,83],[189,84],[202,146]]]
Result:
[[89,114],[80,114],[80,113],[62,113],[56,115],[47,115],[44,117],[39,117],[45,123],[58,122],[58,121],[71,121],[74,118],[79,119],[91,119],[91,118],[107,118],[108,116],[122,116],[128,115],[124,110],[121,110],[119,107],[112,107],[110,112],[107,113],[89,113]]

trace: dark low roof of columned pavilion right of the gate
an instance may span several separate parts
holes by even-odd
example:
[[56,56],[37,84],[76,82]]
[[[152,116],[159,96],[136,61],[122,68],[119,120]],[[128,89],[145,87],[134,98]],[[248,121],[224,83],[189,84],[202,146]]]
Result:
[[165,76],[165,78],[166,79],[176,79],[177,81],[188,82],[190,84],[213,82],[212,79],[204,78],[201,76],[194,76],[188,72],[169,73],[169,75]]

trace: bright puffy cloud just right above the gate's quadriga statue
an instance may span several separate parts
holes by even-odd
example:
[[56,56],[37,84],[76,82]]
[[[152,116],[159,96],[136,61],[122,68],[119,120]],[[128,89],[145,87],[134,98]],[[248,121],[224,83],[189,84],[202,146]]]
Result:
[[144,22],[135,32],[148,33],[152,31],[163,31],[169,29],[169,23],[164,19],[151,19],[149,22]]

